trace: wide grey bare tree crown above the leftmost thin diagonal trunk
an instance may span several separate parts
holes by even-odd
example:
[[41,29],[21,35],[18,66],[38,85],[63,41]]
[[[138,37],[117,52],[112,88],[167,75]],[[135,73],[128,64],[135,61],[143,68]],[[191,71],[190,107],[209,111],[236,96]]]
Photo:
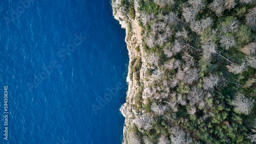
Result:
[[210,27],[213,23],[214,23],[213,20],[210,17],[207,17],[207,18],[201,19],[199,21],[191,21],[190,22],[190,28],[191,28],[192,31],[201,35],[202,32],[206,28]]

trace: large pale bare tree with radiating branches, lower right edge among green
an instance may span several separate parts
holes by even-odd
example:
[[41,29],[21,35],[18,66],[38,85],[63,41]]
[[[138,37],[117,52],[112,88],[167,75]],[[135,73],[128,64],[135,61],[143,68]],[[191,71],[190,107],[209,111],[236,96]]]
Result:
[[234,111],[237,113],[243,113],[248,115],[253,107],[254,100],[249,100],[244,97],[243,94],[237,94],[233,101],[232,105],[234,106]]

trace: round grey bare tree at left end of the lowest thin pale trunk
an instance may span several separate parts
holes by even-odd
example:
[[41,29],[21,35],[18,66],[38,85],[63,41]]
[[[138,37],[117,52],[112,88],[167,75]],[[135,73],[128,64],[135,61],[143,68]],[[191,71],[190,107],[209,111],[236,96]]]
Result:
[[209,77],[205,77],[203,80],[203,88],[207,91],[211,91],[215,86],[218,85],[219,78],[211,75]]

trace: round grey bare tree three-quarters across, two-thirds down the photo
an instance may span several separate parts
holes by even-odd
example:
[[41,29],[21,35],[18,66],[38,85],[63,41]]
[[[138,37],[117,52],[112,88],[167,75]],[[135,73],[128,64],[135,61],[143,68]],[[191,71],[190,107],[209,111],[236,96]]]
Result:
[[196,86],[193,86],[189,93],[187,94],[187,99],[189,100],[189,104],[194,106],[199,104],[199,102],[203,101],[204,93],[203,90],[198,89]]

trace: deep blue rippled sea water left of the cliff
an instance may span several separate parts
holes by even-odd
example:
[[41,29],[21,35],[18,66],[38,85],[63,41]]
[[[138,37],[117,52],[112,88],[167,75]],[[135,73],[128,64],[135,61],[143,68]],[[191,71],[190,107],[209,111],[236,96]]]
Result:
[[[111,1],[19,6],[19,0],[0,1],[0,113],[5,85],[10,112],[8,141],[0,119],[0,143],[121,143],[128,52]],[[19,17],[8,22],[17,8]],[[100,107],[104,95],[108,102]]]

